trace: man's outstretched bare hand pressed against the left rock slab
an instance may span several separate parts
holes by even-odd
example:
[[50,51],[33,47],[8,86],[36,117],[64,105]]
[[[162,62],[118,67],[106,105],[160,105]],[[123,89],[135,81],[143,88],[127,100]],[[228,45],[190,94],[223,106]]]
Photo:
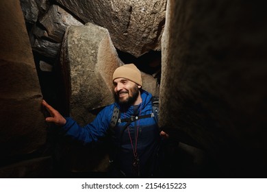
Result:
[[47,102],[44,100],[42,100],[42,106],[47,108],[47,110],[49,111],[51,115],[51,117],[45,118],[45,121],[49,123],[55,123],[56,125],[60,125],[60,126],[66,124],[66,119],[62,117],[62,115],[60,114],[60,112],[58,112],[58,110],[55,110],[53,107],[47,104]]

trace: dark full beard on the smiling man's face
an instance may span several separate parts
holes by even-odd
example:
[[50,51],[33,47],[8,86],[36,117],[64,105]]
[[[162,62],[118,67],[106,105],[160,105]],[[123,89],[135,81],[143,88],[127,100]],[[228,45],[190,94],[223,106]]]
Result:
[[[120,98],[119,97],[120,93],[127,93],[128,97],[125,99]],[[138,94],[139,94],[139,88],[135,84],[135,86],[133,86],[132,88],[129,88],[128,91],[120,91],[118,93],[114,93],[114,97],[118,104],[120,104],[121,106],[129,107],[136,101],[136,99],[138,98]]]

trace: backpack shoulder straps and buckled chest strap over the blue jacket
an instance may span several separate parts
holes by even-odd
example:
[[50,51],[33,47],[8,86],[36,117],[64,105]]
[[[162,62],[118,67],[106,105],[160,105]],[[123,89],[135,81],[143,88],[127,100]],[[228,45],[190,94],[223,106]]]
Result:
[[141,115],[141,116],[131,116],[125,119],[120,119],[120,110],[114,106],[113,114],[112,114],[112,119],[110,120],[110,128],[115,128],[116,124],[122,123],[122,122],[127,122],[125,127],[129,125],[132,121],[136,121],[138,119],[144,119],[144,118],[155,118],[155,121],[158,123],[158,112],[159,112],[159,97],[152,97],[151,99],[152,102],[152,113],[149,115]]

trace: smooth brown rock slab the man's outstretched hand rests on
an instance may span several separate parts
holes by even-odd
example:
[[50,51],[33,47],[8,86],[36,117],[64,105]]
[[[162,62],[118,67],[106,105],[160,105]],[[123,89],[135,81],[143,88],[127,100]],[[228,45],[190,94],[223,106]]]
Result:
[[46,141],[42,93],[19,1],[0,2],[1,160],[36,151]]

